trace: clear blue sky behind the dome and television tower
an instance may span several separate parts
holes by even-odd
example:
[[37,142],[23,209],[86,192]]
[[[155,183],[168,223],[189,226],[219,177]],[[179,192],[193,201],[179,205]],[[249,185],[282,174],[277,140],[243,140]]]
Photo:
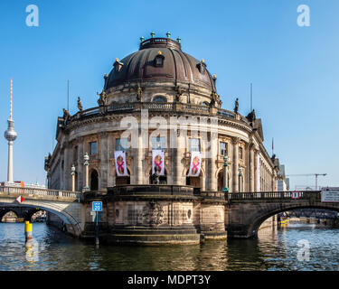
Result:
[[[39,7],[39,27],[28,27],[27,5]],[[297,6],[308,5],[309,27],[297,25]],[[339,1],[48,1],[0,2],[0,124],[9,117],[14,78],[14,179],[45,182],[43,158],[52,151],[56,119],[77,97],[97,106],[116,58],[137,51],[139,37],[180,36],[183,50],[204,59],[217,75],[222,107],[253,107],[265,146],[287,174],[326,172],[320,185],[339,186]],[[6,179],[7,142],[0,141],[0,180]],[[314,177],[291,178],[314,185]]]

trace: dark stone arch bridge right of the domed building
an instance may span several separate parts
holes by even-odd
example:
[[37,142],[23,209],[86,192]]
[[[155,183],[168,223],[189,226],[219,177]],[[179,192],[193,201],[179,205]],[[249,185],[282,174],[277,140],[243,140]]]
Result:
[[287,210],[324,209],[339,212],[339,202],[323,202],[321,191],[228,193],[226,228],[229,238],[257,237],[262,222]]

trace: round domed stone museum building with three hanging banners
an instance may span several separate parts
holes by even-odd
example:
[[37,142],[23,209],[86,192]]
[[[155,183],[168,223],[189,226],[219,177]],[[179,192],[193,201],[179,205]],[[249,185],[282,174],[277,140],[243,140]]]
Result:
[[141,39],[104,75],[98,107],[58,117],[45,158],[51,189],[82,191],[91,236],[113,242],[197,243],[226,238],[225,192],[277,191],[278,159],[263,146],[254,110],[221,108],[217,79],[180,39]]

